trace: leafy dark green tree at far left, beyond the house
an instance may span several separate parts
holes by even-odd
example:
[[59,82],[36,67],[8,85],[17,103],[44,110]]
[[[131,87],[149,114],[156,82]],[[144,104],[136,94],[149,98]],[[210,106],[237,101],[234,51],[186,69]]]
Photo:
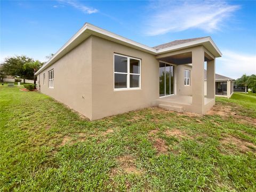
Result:
[[13,77],[19,76],[24,79],[25,83],[25,79],[34,78],[34,70],[32,68],[25,68],[25,63],[31,61],[34,60],[25,55],[7,57],[4,59],[4,62],[1,63],[1,68],[6,75],[11,75]]

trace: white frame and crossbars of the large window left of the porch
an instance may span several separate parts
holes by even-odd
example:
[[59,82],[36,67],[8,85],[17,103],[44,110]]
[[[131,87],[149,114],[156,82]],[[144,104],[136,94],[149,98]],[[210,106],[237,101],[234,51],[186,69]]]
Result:
[[[115,72],[115,55],[127,58],[127,73]],[[140,73],[138,73],[138,74],[130,73],[130,59],[135,59],[135,60],[139,61]],[[141,89],[141,59],[114,53],[114,62],[113,63],[114,63],[114,91],[140,90]],[[126,75],[126,81],[127,81],[126,88],[115,88],[115,74],[125,74]],[[138,75],[139,76],[139,87],[130,87],[130,75]]]

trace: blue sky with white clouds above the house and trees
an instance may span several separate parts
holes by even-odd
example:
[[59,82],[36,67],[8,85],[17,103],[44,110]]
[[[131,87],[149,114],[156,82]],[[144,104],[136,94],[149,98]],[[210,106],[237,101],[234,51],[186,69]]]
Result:
[[0,61],[46,61],[85,22],[148,46],[211,36],[216,73],[256,74],[256,1],[1,1]]

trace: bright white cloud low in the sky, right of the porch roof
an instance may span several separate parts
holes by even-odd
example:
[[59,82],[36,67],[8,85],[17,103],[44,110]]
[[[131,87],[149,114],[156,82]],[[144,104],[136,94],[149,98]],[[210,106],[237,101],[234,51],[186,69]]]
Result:
[[222,54],[222,57],[217,58],[216,61],[217,74],[235,79],[243,74],[256,74],[256,53],[246,54],[224,50]]

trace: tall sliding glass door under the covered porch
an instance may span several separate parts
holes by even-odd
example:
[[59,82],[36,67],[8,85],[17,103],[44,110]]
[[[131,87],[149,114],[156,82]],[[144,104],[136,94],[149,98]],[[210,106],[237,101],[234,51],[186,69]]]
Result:
[[159,96],[160,97],[174,94],[173,80],[174,80],[173,66],[160,62],[159,63]]

